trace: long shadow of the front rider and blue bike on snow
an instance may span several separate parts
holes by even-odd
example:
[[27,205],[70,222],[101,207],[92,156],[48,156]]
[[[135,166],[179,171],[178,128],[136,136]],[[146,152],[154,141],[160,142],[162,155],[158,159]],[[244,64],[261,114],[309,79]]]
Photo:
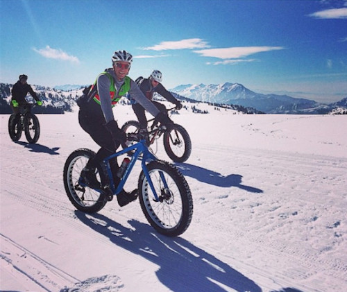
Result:
[[158,280],[171,291],[225,292],[223,286],[238,292],[262,291],[251,279],[183,238],[164,237],[153,232],[150,225],[134,219],[128,221],[133,227],[129,229],[101,214],[77,210],[75,214],[82,223],[108,237],[112,243],[158,265],[155,272]]

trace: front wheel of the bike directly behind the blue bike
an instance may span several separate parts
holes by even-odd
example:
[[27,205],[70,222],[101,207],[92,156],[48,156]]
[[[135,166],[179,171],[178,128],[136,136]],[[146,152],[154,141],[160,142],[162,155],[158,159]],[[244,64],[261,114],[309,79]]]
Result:
[[170,131],[164,132],[164,148],[174,162],[185,162],[192,152],[192,141],[183,126],[174,124]]

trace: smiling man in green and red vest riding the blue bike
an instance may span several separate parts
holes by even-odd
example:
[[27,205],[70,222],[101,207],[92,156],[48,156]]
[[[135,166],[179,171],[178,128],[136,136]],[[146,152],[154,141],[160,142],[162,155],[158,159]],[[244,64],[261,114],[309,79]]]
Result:
[[[85,184],[94,189],[101,188],[96,179],[96,166],[107,156],[115,153],[122,142],[126,141],[126,134],[119,129],[112,108],[117,104],[121,96],[127,92],[133,99],[148,110],[154,117],[170,127],[172,121],[158,110],[149,101],[137,86],[134,80],[128,77],[133,62],[133,56],[127,51],[115,51],[112,55],[112,68],[105,69],[99,74],[95,83],[86,93],[85,103],[80,105],[78,121],[92,139],[101,146],[94,158],[91,158],[81,173]],[[110,161],[115,184],[119,183],[116,173],[119,169],[117,158]],[[137,198],[137,189],[130,193],[122,191],[117,196],[119,205],[122,207]]]

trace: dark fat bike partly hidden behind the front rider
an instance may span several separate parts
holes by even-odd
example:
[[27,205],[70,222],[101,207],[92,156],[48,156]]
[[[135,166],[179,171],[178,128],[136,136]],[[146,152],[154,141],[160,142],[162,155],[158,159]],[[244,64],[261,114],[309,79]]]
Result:
[[[174,108],[167,109],[169,113]],[[150,134],[147,137],[147,144],[151,146],[155,141],[158,141],[163,136],[164,149],[170,159],[174,162],[185,162],[192,152],[192,141],[189,134],[183,126],[174,123],[171,130],[167,130],[160,126],[160,124],[153,118],[148,121],[151,123]],[[138,121],[127,121],[121,127],[126,134],[137,133],[140,130],[140,124]],[[128,147],[128,144],[122,144],[123,148]]]

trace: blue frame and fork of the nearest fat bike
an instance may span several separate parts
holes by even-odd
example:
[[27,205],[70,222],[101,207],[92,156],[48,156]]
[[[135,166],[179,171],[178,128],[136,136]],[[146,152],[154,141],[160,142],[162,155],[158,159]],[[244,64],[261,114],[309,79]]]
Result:
[[[110,160],[112,158],[118,157],[120,155],[126,154],[128,151],[135,151],[131,157],[131,160],[128,164],[128,166],[126,167],[126,170],[124,171],[124,175],[122,176],[117,188],[115,188],[115,182],[113,180],[112,177],[112,171],[111,171],[111,167],[110,167]],[[131,173],[131,171],[133,170],[133,167],[135,165],[135,162],[137,160],[139,160],[139,155],[142,154],[142,170],[144,171],[144,175],[146,176],[148,182],[149,182],[149,186],[151,187],[151,190],[153,191],[153,195],[155,197],[155,200],[159,200],[159,196],[155,191],[155,188],[153,186],[153,182],[151,180],[151,176],[149,175],[149,171],[146,167],[146,162],[151,162],[153,160],[157,160],[157,157],[155,157],[150,151],[149,148],[146,146],[146,140],[142,139],[139,142],[137,142],[136,144],[133,144],[132,146],[129,146],[128,148],[125,148],[121,151],[118,151],[108,157],[106,157],[103,162],[105,163],[106,166],[106,170],[108,173],[108,178],[110,179],[110,189],[112,191],[113,195],[118,195],[121,190],[124,187],[124,184],[126,184],[126,180],[128,180],[128,177]],[[167,181],[164,178],[164,175],[162,173],[162,171],[160,171],[160,178],[162,179],[162,182],[164,183],[164,187],[168,188],[167,186]]]

